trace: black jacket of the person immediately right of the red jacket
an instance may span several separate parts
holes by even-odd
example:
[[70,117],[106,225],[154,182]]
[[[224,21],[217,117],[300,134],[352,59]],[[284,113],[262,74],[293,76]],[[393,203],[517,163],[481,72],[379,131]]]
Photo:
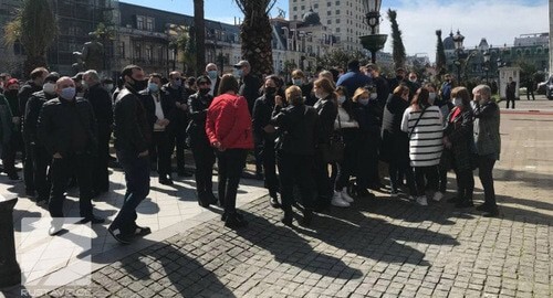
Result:
[[261,145],[265,141],[274,141],[275,135],[267,134],[263,127],[271,123],[272,113],[274,110],[274,96],[265,95],[255,99],[252,113],[253,141],[255,145]]

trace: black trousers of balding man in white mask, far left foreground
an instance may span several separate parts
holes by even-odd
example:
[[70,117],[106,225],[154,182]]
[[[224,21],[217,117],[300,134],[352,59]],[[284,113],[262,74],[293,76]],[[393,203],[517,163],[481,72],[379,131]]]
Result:
[[92,216],[92,156],[90,153],[67,153],[52,159],[52,192],[48,205],[52,217],[63,217],[64,192],[71,175],[79,181],[79,206],[82,217]]

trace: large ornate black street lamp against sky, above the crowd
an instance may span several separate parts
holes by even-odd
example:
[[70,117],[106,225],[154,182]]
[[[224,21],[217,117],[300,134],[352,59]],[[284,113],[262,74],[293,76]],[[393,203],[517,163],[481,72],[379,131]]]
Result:
[[376,52],[384,47],[388,38],[386,34],[376,34],[376,28],[380,24],[382,0],[362,0],[361,2],[365,9],[365,21],[371,26],[369,35],[359,36],[361,44],[371,52],[372,61],[376,63]]

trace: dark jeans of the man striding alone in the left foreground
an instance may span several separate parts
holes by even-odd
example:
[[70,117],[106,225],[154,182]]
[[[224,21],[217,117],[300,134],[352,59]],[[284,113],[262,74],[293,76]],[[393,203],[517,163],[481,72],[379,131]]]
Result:
[[125,172],[127,190],[123,206],[113,220],[111,228],[119,228],[123,234],[134,233],[136,228],[136,207],[149,193],[149,160],[138,157],[137,152],[118,150],[117,160]]

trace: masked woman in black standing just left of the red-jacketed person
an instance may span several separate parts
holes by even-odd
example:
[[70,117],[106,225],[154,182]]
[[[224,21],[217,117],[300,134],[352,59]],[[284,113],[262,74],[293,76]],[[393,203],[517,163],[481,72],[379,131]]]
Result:
[[190,123],[186,132],[188,134],[188,142],[196,163],[195,178],[198,203],[204,207],[208,207],[209,204],[217,203],[217,198],[213,195],[213,182],[211,180],[215,151],[206,135],[207,110],[213,100],[213,96],[209,95],[211,79],[208,76],[199,76],[196,82],[198,84],[198,92],[188,98]]

